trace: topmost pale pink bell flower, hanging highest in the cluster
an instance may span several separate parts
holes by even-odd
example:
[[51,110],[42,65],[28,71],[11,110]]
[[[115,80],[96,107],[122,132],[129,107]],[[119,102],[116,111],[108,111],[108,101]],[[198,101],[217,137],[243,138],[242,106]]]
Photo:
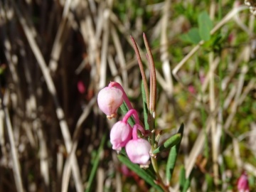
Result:
[[97,102],[100,110],[107,114],[108,119],[112,119],[117,116],[117,109],[122,105],[122,90],[116,87],[105,87],[100,90],[97,96]]

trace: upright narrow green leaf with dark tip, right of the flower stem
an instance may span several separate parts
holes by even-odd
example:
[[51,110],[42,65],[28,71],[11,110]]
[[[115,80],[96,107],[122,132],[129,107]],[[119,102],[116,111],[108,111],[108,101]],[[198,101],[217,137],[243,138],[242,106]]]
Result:
[[[183,137],[183,130],[184,130],[184,124],[181,124],[181,127],[178,129],[178,133],[181,134],[181,139]],[[176,144],[176,146],[171,147],[170,153],[169,153],[169,157],[167,160],[167,164],[166,164],[166,179],[168,182],[171,181],[171,176],[174,172],[174,166],[176,163],[176,159],[178,156],[178,149],[181,145],[181,142],[179,142],[178,144]]]

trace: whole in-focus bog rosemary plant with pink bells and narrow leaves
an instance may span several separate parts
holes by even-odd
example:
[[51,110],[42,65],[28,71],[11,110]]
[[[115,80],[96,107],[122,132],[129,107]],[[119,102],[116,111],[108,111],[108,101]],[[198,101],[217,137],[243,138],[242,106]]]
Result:
[[[139,120],[137,110],[132,107],[122,85],[118,82],[110,82],[107,87],[100,90],[97,102],[100,110],[107,115],[108,119],[117,116],[117,109],[119,107],[124,114],[122,120],[115,123],[110,132],[112,149],[117,151],[119,161],[137,173],[157,191],[171,191],[170,181],[174,171],[184,126],[181,124],[178,133],[166,139],[164,144],[158,145],[159,137],[161,136],[155,134],[156,128],[154,126],[156,117],[156,71],[153,56],[145,34],[143,34],[143,38],[150,69],[149,86],[147,85],[137,43],[131,36],[139,63],[139,69],[142,73],[144,124]],[[157,161],[157,155],[164,150],[169,150],[169,157],[166,159],[165,178],[159,174],[159,162]],[[149,166],[152,166],[154,174],[149,171]],[[186,191],[190,183],[190,178],[185,177],[184,170],[181,171],[181,178],[180,189],[181,191]]]

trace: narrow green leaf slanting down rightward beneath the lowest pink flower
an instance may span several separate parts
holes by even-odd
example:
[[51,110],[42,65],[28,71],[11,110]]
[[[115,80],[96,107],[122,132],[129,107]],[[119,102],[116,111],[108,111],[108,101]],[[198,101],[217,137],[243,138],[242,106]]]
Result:
[[146,183],[149,183],[152,187],[156,188],[157,191],[164,191],[160,186],[158,186],[154,182],[154,178],[150,174],[148,174],[144,169],[141,169],[139,165],[133,164],[129,159],[125,156],[118,155],[117,156],[119,161],[121,161],[123,164],[125,164],[129,169],[134,171],[138,176],[144,179]]

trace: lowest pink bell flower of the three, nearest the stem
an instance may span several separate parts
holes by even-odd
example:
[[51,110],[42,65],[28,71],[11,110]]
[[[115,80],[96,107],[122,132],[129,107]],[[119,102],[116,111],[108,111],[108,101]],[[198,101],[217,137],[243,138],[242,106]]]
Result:
[[134,164],[140,164],[141,166],[149,165],[149,151],[151,146],[146,139],[132,139],[125,146],[127,156]]

